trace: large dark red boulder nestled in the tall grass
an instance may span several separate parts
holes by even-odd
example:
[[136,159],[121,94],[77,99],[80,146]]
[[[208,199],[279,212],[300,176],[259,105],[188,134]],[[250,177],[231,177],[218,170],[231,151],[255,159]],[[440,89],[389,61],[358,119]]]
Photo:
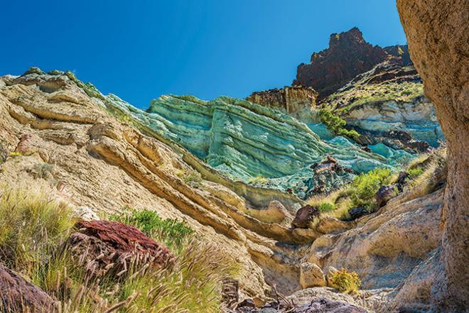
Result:
[[118,273],[137,257],[158,266],[174,260],[168,248],[134,226],[117,221],[80,221],[77,227],[79,231],[68,238],[67,245],[93,275],[109,270]]

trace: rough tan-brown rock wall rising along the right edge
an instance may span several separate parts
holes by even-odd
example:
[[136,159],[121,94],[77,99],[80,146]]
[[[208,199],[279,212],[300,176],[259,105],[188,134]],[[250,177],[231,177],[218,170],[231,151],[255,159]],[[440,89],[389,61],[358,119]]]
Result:
[[409,52],[448,142],[441,226],[445,268],[433,282],[437,312],[469,307],[469,1],[397,0]]

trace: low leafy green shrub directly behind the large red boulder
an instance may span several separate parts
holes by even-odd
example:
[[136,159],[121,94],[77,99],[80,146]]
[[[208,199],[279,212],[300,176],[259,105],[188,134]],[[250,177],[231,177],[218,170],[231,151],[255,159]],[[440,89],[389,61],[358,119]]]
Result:
[[185,243],[194,232],[185,221],[180,222],[176,219],[161,219],[156,212],[150,211],[149,209],[141,211],[133,210],[130,213],[113,215],[109,219],[136,226],[136,228],[143,231],[146,236],[165,243],[170,250],[180,250],[183,243]]

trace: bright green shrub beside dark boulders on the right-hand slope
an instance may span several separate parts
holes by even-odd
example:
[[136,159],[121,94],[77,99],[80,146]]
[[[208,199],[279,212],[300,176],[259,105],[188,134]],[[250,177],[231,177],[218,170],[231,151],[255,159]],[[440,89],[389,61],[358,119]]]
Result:
[[389,168],[375,168],[374,170],[355,177],[351,185],[351,199],[355,207],[375,209],[374,194],[382,185],[388,185],[392,180]]

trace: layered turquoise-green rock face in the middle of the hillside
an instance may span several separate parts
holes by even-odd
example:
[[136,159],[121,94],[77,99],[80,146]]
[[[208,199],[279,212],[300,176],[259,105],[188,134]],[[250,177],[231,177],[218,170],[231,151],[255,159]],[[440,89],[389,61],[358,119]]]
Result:
[[107,97],[134,119],[233,180],[255,183],[253,178],[262,176],[270,179],[262,182],[264,187],[286,190],[306,184],[304,181],[313,175],[308,166],[326,155],[355,172],[399,165],[400,156],[368,153],[317,125],[330,139],[323,141],[293,117],[241,99],[203,101],[193,96],[164,95],[143,111],[116,96]]

